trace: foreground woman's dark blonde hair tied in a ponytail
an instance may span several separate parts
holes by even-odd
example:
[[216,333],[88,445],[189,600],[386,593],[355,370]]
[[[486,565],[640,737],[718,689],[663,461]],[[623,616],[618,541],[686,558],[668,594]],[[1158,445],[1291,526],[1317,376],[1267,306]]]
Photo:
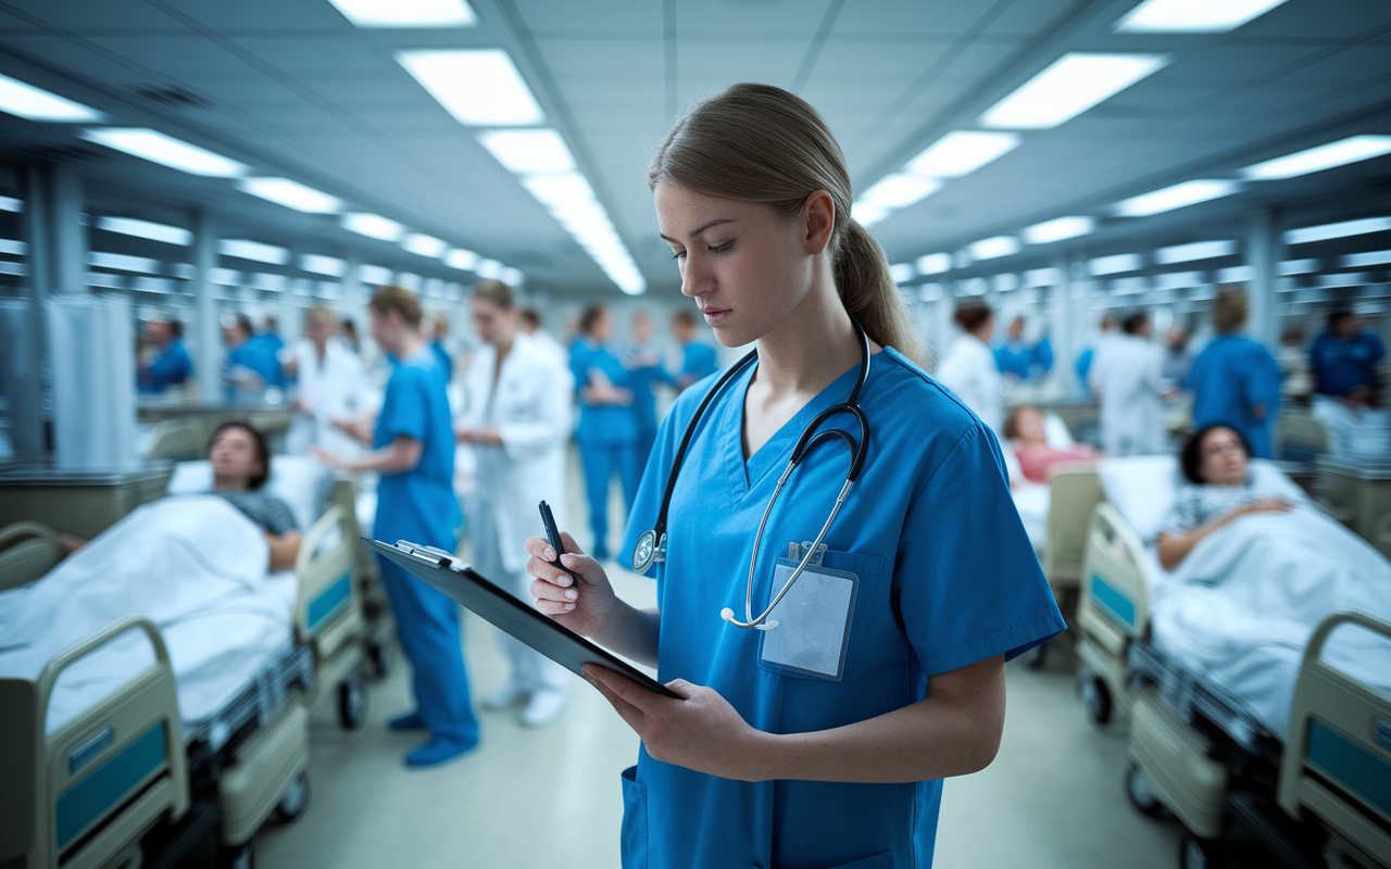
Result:
[[836,292],[865,334],[926,367],[928,352],[889,275],[889,260],[850,216],[846,157],[805,100],[771,85],[734,85],[676,122],[647,170],[647,185],[670,181],[711,196],[769,204],[791,218],[825,190],[835,203],[830,250]]

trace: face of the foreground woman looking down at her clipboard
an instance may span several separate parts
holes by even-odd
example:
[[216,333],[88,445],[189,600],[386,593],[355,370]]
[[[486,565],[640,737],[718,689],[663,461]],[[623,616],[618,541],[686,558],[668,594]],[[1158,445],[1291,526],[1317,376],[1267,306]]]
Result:
[[672,182],[657,186],[657,222],[682,273],[682,293],[696,299],[722,345],[762,338],[807,298],[814,257],[826,246],[808,232],[818,220],[812,200],[819,203],[818,195],[801,216],[786,220],[762,203]]

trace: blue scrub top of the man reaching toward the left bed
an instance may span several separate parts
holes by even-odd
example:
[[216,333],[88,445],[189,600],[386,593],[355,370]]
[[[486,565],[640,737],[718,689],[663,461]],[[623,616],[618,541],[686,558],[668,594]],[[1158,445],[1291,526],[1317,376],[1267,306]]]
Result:
[[398,435],[420,441],[420,463],[401,474],[383,474],[377,484],[377,539],[453,549],[462,521],[453,495],[453,425],[444,371],[423,350],[398,363],[387,381],[381,416],[371,444],[381,449]]

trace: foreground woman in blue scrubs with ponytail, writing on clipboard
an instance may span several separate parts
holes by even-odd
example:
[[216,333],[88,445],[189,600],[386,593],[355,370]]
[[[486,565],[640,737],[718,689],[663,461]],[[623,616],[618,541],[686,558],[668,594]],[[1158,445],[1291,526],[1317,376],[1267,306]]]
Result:
[[[572,585],[545,560],[545,541],[527,541],[537,606],[657,665],[684,698],[586,667],[643,738],[622,779],[623,865],[926,866],[940,780],[982,769],[997,749],[1006,658],[1064,628],[999,444],[922,371],[887,261],[850,216],[840,147],[807,103],[736,85],[677,122],[648,181],[682,292],[722,345],[755,342],[758,359],[701,414],[676,477],[666,560],[651,570],[657,610],[615,598],[583,553],[562,559],[581,576]],[[868,459],[808,588],[843,594],[837,583],[851,583],[853,603],[837,598],[840,609],[747,630],[721,610],[746,617],[750,559],[759,613],[779,588],[779,559],[817,538],[846,480],[847,445],[832,437],[791,471],[753,552],[794,442],[855,385],[862,352],[851,317],[868,335]],[[677,441],[712,387],[687,389],[664,421],[625,558],[654,527]],[[835,427],[860,431],[849,414],[822,431]],[[797,585],[791,594],[807,596]],[[836,612],[844,635],[823,633],[821,616]],[[796,633],[776,640],[780,630]],[[812,635],[839,647],[835,676],[786,655]]]

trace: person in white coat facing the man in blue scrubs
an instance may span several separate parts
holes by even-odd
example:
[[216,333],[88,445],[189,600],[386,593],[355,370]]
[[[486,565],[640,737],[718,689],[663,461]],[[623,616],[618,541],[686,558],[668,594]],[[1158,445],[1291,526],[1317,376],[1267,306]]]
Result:
[[[470,300],[473,331],[484,342],[463,378],[460,444],[477,453],[477,482],[465,499],[479,573],[531,602],[526,539],[541,533],[545,501],[558,527],[565,519],[565,444],[570,435],[569,371],[517,328],[512,291],[483,281]],[[522,724],[545,727],[559,716],[570,674],[530,647],[499,634],[512,677],[483,701],[501,710],[526,704]]]

